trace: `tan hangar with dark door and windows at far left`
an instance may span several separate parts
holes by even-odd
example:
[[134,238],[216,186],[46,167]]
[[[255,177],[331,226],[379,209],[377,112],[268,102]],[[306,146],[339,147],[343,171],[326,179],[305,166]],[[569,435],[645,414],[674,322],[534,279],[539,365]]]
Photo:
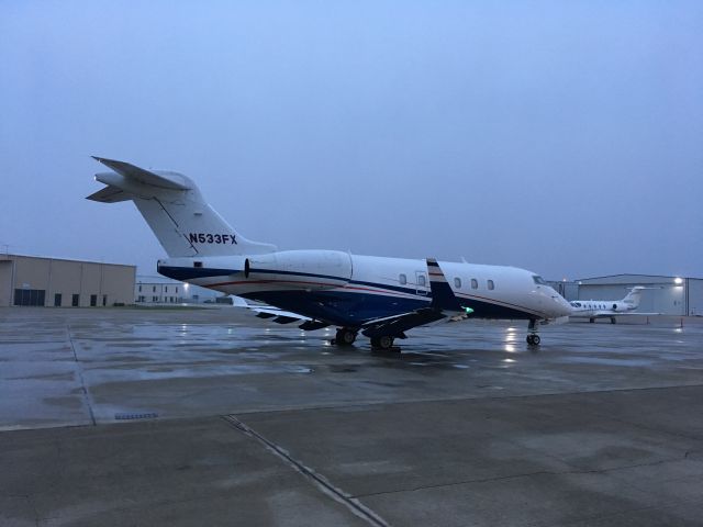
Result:
[[135,266],[3,254],[0,306],[133,304],[135,276]]

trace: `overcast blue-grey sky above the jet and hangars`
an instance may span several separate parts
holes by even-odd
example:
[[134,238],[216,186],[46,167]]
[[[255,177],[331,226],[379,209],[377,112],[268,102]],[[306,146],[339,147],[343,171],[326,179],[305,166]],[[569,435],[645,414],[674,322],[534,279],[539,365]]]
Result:
[[[0,244],[164,256],[89,156],[281,249],[703,277],[703,2],[0,1]],[[4,249],[4,247],[1,247]]]

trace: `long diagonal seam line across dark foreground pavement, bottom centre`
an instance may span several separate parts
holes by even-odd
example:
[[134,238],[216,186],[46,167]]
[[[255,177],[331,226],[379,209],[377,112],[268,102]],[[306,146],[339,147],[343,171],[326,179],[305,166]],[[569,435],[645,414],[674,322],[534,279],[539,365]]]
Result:
[[286,464],[292,467],[298,472],[303,474],[312,484],[314,484],[317,489],[320,489],[324,494],[328,495],[336,502],[345,505],[349,511],[352,511],[356,516],[366,519],[369,525],[373,525],[376,527],[389,527],[389,523],[381,518],[373,511],[368,508],[357,498],[353,497],[350,494],[344,492],[342,489],[334,486],[327,479],[317,472],[315,472],[310,467],[304,466],[302,462],[292,458],[290,453],[288,453],[284,449],[276,445],[275,442],[268,440],[266,437],[260,435],[258,431],[249,427],[248,425],[242,423],[235,415],[224,415],[222,418],[227,422],[233,428],[246,434],[249,437],[255,438],[261,445],[266,447],[267,450],[276,455],[280,458]]

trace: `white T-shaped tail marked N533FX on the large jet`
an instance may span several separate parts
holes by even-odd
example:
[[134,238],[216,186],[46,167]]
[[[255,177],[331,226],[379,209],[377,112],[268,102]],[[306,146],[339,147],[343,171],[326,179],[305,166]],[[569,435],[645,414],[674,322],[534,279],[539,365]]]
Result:
[[257,255],[276,246],[246,239],[202,198],[188,177],[167,170],[145,170],[129,162],[94,157],[114,170],[96,175],[107,187],[88,200],[115,203],[132,200],[169,257]]

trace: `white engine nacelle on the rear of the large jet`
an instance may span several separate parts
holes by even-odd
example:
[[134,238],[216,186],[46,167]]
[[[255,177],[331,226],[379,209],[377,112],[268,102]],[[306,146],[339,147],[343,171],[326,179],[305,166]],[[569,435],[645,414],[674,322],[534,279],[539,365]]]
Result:
[[339,288],[352,279],[352,257],[339,250],[281,250],[249,256],[244,276],[259,283],[288,283],[295,289]]

